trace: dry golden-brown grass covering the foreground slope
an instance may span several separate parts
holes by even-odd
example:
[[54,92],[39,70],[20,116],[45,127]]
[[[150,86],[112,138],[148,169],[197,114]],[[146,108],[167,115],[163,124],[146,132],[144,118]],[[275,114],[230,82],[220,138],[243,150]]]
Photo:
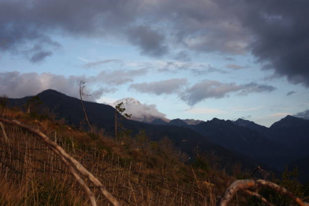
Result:
[[[176,176],[181,171],[169,170],[166,164],[159,164],[162,168],[147,167],[138,149],[128,155],[121,143],[101,133],[87,134],[61,122],[31,118],[20,111],[4,109],[2,114],[38,127],[58,142],[122,205],[216,204],[218,191],[215,192],[216,188],[209,181],[194,176],[189,178],[191,181],[184,182],[181,180],[183,175]],[[0,205],[89,204],[81,186],[52,150],[24,129],[11,125],[4,127],[9,142],[0,131]],[[139,161],[133,163],[132,154]],[[182,163],[177,164],[181,166]],[[87,184],[94,191],[98,205],[110,205],[98,188],[90,182]]]

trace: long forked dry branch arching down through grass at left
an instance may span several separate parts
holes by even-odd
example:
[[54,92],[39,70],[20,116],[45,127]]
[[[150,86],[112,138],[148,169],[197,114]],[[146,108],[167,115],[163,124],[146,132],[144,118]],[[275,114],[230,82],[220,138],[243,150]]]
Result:
[[44,133],[41,131],[34,129],[26,124],[23,124],[16,120],[8,120],[5,118],[0,117],[0,122],[16,125],[19,127],[22,127],[26,129],[27,131],[34,134],[39,140],[43,141],[48,147],[50,147],[60,158],[61,160],[69,167],[71,173],[75,177],[75,179],[79,182],[79,184],[84,188],[85,192],[87,193],[87,196],[91,202],[91,205],[96,205],[94,194],[91,192],[87,184],[84,182],[84,180],[78,175],[76,170],[73,168],[72,165],[76,167],[76,169],[85,177],[87,177],[95,186],[99,187],[101,193],[114,205],[114,206],[120,206],[120,203],[117,201],[117,199],[106,189],[102,183],[95,178],[84,166],[82,166],[77,160],[75,160],[73,157],[71,157],[60,145],[58,145],[56,142],[50,140]]

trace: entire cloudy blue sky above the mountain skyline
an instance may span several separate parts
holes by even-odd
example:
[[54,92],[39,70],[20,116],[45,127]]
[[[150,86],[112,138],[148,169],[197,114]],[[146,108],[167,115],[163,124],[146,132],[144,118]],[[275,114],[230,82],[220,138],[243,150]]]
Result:
[[307,0],[0,0],[0,94],[134,97],[169,119],[309,118]]

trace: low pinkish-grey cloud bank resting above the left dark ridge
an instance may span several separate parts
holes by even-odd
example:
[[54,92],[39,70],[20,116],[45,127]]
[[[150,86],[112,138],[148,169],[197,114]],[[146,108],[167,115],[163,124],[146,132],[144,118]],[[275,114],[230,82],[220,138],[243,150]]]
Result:
[[50,73],[20,73],[3,72],[0,73],[0,93],[8,94],[10,97],[23,97],[35,95],[45,89],[55,89],[67,95],[78,97],[78,88],[80,80],[86,82],[85,93],[91,94],[86,100],[95,100],[105,93],[115,92],[115,87],[99,87],[91,89],[96,84],[108,84],[117,86],[132,79],[126,79],[125,76],[137,76],[145,70],[114,71],[101,72],[97,76],[69,76],[55,75]]

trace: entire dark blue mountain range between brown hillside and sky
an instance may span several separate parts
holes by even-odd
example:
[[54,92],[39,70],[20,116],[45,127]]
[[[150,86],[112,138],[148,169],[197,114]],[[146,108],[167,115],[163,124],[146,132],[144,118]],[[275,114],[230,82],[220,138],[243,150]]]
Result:
[[[78,126],[84,121],[80,99],[52,89],[37,96],[49,112],[57,114],[67,124]],[[30,98],[10,98],[9,103],[11,107],[22,107]],[[140,102],[136,100],[134,104],[139,105]],[[114,134],[115,109],[112,106],[90,101],[84,101],[84,106],[91,125],[104,128],[107,134]],[[276,171],[283,170],[286,165],[305,165],[309,157],[309,120],[287,116],[267,128],[242,119],[230,121],[214,118],[204,122],[181,119],[168,121],[162,117],[153,117],[148,123],[118,119],[121,119],[125,128],[132,130],[133,136],[140,130],[145,130],[153,141],[167,136],[189,156],[194,156],[197,145],[206,153],[214,151],[221,157],[222,166],[240,162],[246,168],[262,165]],[[307,167],[301,168],[306,170]],[[300,173],[302,180],[309,180],[308,171]]]

